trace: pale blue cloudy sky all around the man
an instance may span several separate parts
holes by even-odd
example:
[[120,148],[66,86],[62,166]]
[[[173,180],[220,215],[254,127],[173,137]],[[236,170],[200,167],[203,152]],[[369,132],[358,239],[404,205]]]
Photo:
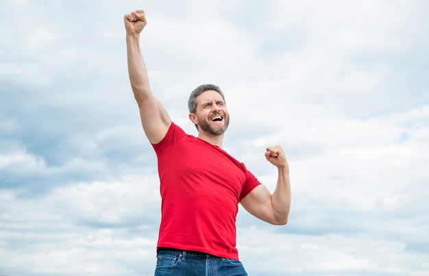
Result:
[[249,275],[429,275],[427,1],[0,3],[0,275],[153,275],[156,155],[127,78],[123,15],[151,87],[189,134],[199,84],[225,92],[225,150],[289,223],[240,209]]

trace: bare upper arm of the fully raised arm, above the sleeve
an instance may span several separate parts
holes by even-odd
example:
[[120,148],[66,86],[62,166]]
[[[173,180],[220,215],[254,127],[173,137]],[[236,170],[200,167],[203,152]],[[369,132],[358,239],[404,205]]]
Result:
[[152,144],[157,144],[164,138],[171,125],[171,118],[164,105],[155,97],[138,103],[143,130]]

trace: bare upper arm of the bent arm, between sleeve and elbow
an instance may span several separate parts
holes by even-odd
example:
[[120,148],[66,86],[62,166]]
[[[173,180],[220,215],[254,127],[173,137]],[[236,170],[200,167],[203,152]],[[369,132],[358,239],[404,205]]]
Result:
[[273,207],[271,205],[271,192],[264,185],[256,186],[240,201],[247,212],[262,221],[273,223]]

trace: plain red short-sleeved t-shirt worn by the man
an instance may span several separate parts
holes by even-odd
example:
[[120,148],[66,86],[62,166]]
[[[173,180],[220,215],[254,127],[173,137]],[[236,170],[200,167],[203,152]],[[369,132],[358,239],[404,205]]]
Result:
[[174,123],[153,147],[162,198],[158,248],[238,260],[238,202],[260,184],[258,179],[226,151]]

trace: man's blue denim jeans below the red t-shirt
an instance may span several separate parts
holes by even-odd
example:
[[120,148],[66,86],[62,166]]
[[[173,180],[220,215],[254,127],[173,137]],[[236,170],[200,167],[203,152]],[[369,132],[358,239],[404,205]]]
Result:
[[201,252],[160,249],[155,276],[247,276],[238,260],[220,258]]

